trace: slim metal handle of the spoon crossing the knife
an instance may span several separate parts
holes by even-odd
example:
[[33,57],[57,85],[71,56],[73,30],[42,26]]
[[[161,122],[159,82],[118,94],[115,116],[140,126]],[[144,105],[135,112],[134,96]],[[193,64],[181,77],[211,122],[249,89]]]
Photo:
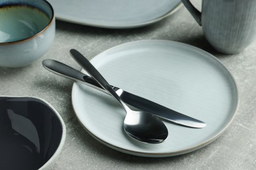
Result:
[[95,81],[98,82],[98,84],[100,84],[100,86],[102,86],[102,88],[107,90],[110,93],[110,95],[112,95],[123,106],[125,110],[130,110],[129,107],[121,100],[121,97],[119,97],[119,95],[121,95],[123,90],[120,89],[119,95],[118,95],[113,90],[112,86],[98,72],[98,70],[80,52],[78,52],[75,49],[72,49],[70,50],[70,54],[75,59],[75,61],[77,61],[77,63],[79,63],[79,65],[81,65],[81,67],[83,67],[83,69],[85,69],[85,71],[87,71],[87,73],[89,73],[89,75],[91,75],[95,79]]

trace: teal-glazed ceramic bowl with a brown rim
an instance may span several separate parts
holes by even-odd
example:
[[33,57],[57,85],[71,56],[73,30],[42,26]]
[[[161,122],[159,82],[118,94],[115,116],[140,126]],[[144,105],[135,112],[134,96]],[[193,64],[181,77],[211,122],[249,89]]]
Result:
[[0,67],[24,67],[53,43],[53,7],[44,0],[0,0]]

